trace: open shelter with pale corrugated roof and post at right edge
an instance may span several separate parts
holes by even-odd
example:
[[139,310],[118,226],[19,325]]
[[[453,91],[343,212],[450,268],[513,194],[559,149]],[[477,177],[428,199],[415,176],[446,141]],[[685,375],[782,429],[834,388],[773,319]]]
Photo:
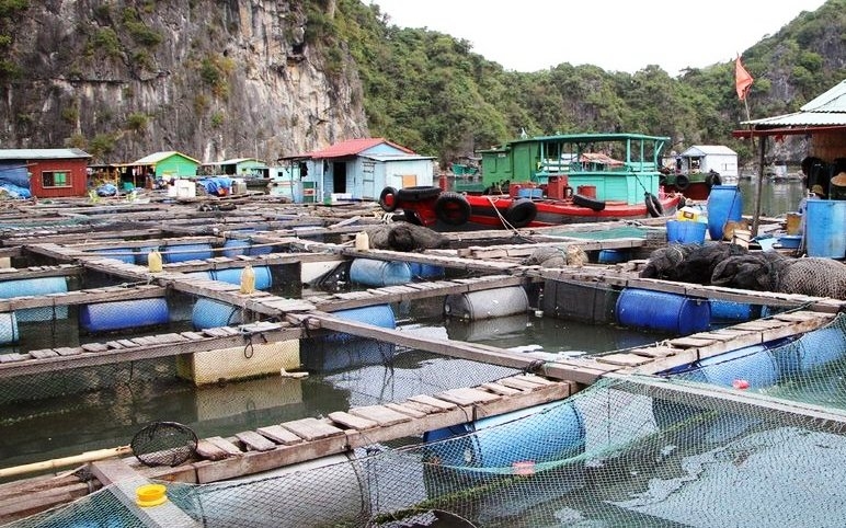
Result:
[[[785,136],[809,136],[809,156],[802,169],[808,171],[807,185],[828,188],[831,177],[838,170],[846,170],[846,79],[822,95],[814,97],[798,112],[751,119],[741,123],[747,129],[734,130],[738,138],[758,138],[758,192],[755,196],[755,216],[752,233],[757,234],[761,217],[761,190],[764,177],[765,154],[769,138],[780,141]],[[819,160],[819,161],[816,161]],[[824,168],[824,169],[822,169]]]

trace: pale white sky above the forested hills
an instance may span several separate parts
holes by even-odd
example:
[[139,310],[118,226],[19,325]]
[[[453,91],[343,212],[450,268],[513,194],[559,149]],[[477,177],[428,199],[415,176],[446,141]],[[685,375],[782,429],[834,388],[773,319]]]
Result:
[[425,27],[468,41],[507,70],[562,62],[634,73],[734,60],[802,11],[825,0],[363,0],[389,24]]

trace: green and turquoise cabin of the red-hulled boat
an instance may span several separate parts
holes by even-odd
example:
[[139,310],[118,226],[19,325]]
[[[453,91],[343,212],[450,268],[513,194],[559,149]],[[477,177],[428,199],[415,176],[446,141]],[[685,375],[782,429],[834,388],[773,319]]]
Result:
[[[641,134],[539,136],[482,150],[483,185],[542,187],[550,198],[567,188],[599,200],[640,204],[659,194],[661,152],[670,138]],[[507,192],[507,191],[506,191]]]

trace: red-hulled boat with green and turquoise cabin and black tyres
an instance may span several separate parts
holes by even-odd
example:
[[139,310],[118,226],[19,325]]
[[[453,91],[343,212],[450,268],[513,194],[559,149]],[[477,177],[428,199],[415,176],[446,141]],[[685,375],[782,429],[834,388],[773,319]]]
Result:
[[385,187],[379,205],[426,227],[523,228],[672,215],[684,196],[660,186],[667,141],[640,134],[521,138],[481,151],[479,187]]

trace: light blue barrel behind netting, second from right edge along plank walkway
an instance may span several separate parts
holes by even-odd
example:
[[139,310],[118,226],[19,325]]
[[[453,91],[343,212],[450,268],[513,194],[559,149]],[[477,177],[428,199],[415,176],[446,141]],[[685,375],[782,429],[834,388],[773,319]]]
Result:
[[752,345],[718,356],[701,359],[693,365],[686,379],[724,388],[732,388],[736,380],[748,381],[751,389],[763,389],[776,383],[779,367],[773,354],[764,345]]

